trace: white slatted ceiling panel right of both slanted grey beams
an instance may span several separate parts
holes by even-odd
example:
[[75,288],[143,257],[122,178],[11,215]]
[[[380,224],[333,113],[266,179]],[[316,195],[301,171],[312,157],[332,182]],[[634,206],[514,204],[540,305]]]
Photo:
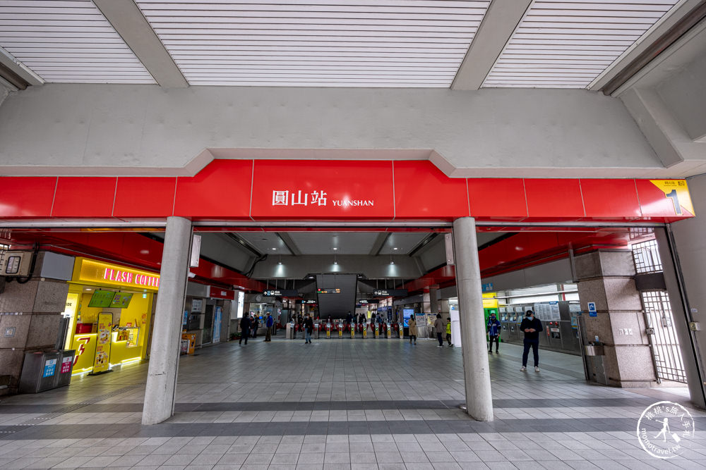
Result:
[[539,0],[484,87],[585,88],[678,0]]

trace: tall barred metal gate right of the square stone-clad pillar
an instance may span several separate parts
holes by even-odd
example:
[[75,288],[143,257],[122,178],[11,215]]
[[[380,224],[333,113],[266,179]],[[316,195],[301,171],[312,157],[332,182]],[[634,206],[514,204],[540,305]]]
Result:
[[642,305],[645,307],[647,328],[654,331],[651,342],[657,378],[686,383],[684,361],[674,330],[669,294],[662,290],[642,292]]

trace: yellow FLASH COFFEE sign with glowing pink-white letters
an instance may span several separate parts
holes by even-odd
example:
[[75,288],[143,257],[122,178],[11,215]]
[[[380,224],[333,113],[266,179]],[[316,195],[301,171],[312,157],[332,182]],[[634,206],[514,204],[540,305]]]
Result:
[[160,288],[159,274],[81,257],[74,261],[71,280],[76,283],[127,287],[133,290],[154,292]]

